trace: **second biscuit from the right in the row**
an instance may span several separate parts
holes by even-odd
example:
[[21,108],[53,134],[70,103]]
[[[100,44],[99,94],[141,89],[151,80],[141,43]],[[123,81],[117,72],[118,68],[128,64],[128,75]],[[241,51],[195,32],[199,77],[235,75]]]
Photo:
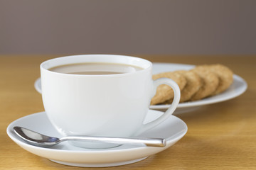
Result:
[[191,101],[197,101],[213,95],[219,84],[218,76],[215,73],[210,72],[210,70],[205,67],[195,67],[192,70],[193,72],[196,72],[199,77],[201,77],[203,80],[203,85],[196,92],[196,94],[191,97]]

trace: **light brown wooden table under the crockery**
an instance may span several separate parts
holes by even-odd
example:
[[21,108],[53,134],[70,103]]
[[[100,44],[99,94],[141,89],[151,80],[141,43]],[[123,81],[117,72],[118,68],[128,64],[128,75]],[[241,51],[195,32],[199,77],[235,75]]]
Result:
[[[12,121],[44,110],[33,84],[40,77],[39,64],[53,57],[59,56],[0,56],[0,169],[82,169],[33,155],[6,135]],[[248,89],[229,101],[176,115],[188,125],[188,132],[164,152],[105,169],[256,169],[256,56],[139,57],[151,62],[225,64],[247,81]]]

